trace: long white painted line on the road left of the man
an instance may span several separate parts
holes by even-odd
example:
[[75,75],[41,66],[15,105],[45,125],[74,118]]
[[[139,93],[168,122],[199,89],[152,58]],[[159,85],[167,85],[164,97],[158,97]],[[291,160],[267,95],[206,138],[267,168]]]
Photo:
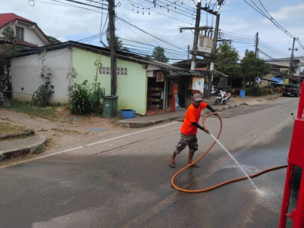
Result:
[[[145,129],[145,130],[142,130],[142,131],[133,132],[133,133],[130,133],[130,134],[126,134],[126,135],[121,135],[121,136],[114,137],[114,138],[105,139],[105,140],[102,140],[102,141],[99,141],[99,142],[94,142],[94,143],[87,144],[85,146],[96,145],[96,144],[99,144],[99,143],[102,143],[102,142],[107,142],[107,141],[115,140],[115,139],[118,139],[118,138],[123,138],[123,137],[127,137],[127,136],[130,136],[130,135],[139,134],[139,133],[142,133],[142,132],[151,131],[151,130],[154,130],[154,129],[157,129],[157,128],[166,127],[166,126],[169,126],[169,125],[172,125],[172,124],[176,124],[176,123],[179,123],[179,122],[175,121],[175,122],[172,122],[170,124],[165,124],[165,125],[162,125],[162,126],[153,127],[153,128]],[[52,154],[49,154],[49,155],[44,155],[44,156],[40,156],[40,157],[28,159],[28,160],[14,162],[14,163],[11,163],[11,164],[8,164],[8,165],[2,165],[2,166],[0,166],[0,169],[1,168],[6,168],[6,167],[10,167],[10,166],[19,165],[19,164],[23,164],[23,163],[27,163],[27,162],[31,162],[31,161],[35,161],[35,160],[38,160],[38,159],[43,159],[43,158],[51,157],[51,156],[54,156],[54,155],[63,154],[63,153],[66,153],[66,152],[69,152],[69,151],[72,151],[72,150],[82,149],[85,146],[78,146],[78,147],[74,147],[74,148],[58,151],[58,152],[55,152],[55,153],[52,153]]]

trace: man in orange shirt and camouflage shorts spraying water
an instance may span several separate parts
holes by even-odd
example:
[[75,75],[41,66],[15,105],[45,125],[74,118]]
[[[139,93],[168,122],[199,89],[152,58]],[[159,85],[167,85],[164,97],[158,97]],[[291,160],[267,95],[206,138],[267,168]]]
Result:
[[[202,131],[210,134],[208,129],[199,125],[201,111],[204,108],[208,108],[210,111],[217,116],[217,112],[207,103],[202,102],[203,98],[200,94],[196,93],[193,95],[192,104],[188,107],[185,115],[184,122],[180,128],[180,141],[176,145],[172,157],[170,158],[170,166],[175,167],[175,157],[179,155],[181,150],[186,146],[189,147],[189,157],[187,165],[192,163],[192,159],[195,151],[198,150],[198,138],[196,136],[198,128]],[[192,165],[193,167],[200,167],[198,164]]]

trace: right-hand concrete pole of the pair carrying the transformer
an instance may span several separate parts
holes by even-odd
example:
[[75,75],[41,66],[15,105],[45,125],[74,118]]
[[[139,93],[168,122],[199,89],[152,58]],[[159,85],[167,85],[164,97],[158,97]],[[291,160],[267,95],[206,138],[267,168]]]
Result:
[[[214,55],[214,56],[216,53],[216,44],[217,44],[217,35],[218,35],[218,26],[219,26],[219,13],[220,13],[220,5],[221,5],[222,1],[223,0],[217,1],[216,24],[215,24],[215,29],[214,29],[214,39],[213,39],[213,47],[212,47],[212,55]],[[215,64],[215,58],[213,58],[211,60],[211,64],[210,64],[210,75],[209,75],[207,98],[211,97],[211,86],[212,86],[212,82],[213,82],[214,64]]]

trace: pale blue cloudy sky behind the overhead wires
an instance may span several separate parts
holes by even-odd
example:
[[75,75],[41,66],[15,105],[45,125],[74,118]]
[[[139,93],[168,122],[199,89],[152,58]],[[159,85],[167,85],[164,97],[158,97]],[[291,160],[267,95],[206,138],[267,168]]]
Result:
[[[15,13],[34,21],[45,34],[62,42],[107,44],[104,32],[108,23],[107,1],[74,1],[91,6],[67,0],[0,0],[0,13]],[[198,0],[153,2],[115,0],[116,35],[132,52],[151,55],[160,46],[170,63],[187,59],[187,46],[193,48],[194,30],[180,32],[179,28],[194,27]],[[201,3],[202,7],[216,11],[215,0],[201,0]],[[263,59],[289,58],[296,37],[300,44],[295,41],[294,56],[304,56],[303,12],[302,0],[224,0],[220,7],[220,37],[232,40],[231,45],[242,58],[246,49],[254,51],[258,32],[258,54]],[[202,10],[200,26],[215,27],[215,16]]]

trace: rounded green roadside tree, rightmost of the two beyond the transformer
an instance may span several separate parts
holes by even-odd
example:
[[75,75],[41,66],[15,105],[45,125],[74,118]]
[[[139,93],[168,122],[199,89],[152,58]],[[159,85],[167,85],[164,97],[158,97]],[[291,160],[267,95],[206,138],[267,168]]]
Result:
[[263,77],[266,74],[271,73],[271,67],[263,59],[256,57],[253,51],[245,51],[245,56],[241,60],[241,70],[243,74],[243,89],[247,82],[250,83],[250,87],[256,77]]

